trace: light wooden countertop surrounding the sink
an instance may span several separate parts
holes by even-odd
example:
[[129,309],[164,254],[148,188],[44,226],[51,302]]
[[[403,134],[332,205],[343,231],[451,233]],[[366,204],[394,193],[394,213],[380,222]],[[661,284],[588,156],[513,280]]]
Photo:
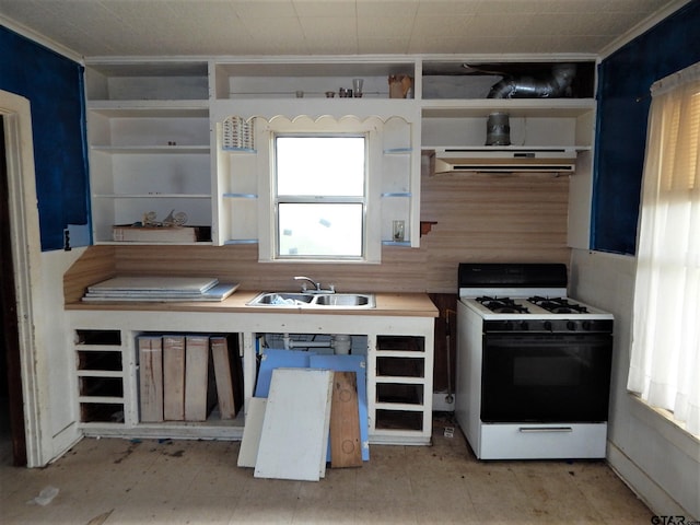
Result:
[[106,312],[213,312],[225,314],[396,315],[407,317],[438,317],[440,315],[438,308],[425,293],[375,293],[376,306],[374,308],[247,306],[246,303],[258,293],[260,292],[240,290],[221,302],[74,302],[66,304],[66,310]]

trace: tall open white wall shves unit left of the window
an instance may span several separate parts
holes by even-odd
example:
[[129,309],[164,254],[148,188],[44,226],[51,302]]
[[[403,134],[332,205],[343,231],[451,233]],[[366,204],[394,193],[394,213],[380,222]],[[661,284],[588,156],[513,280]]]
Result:
[[94,242],[126,242],[113,226],[150,212],[184,213],[192,237],[211,241],[207,62],[89,63],[85,78]]

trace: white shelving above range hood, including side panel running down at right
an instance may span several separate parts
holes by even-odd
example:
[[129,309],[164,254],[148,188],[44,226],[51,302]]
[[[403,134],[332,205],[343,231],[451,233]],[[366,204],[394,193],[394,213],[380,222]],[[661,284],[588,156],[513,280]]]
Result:
[[[494,57],[497,58],[497,57]],[[489,61],[489,58],[486,58]],[[593,194],[593,144],[595,140],[595,57],[534,56],[498,57],[483,71],[500,71],[512,79],[527,75],[547,79],[553,66],[575,65],[575,75],[562,97],[489,98],[491,88],[504,74],[469,75],[483,57],[464,60],[424,60],[421,63],[421,147],[483,149],[487,121],[492,113],[506,113],[509,149],[573,148],[576,165],[569,186],[568,245],[588,248]],[[467,66],[467,68],[465,68]]]

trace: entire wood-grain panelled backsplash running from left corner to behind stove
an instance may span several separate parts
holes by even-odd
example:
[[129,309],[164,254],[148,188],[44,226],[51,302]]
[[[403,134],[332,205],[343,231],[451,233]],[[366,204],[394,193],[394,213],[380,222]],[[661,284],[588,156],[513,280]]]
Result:
[[569,264],[568,197],[567,176],[425,175],[421,220],[436,224],[420,248],[385,246],[381,265],[258,262],[257,245],[93,246],[67,273],[67,300],[105,271],[213,276],[243,290],[296,290],[292,277],[310,276],[339,291],[456,293],[462,261]]

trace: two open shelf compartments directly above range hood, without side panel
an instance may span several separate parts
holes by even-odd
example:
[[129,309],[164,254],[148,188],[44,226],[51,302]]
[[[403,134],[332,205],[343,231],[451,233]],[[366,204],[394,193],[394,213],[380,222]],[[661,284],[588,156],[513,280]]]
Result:
[[[469,67],[464,67],[468,65]],[[575,68],[570,85],[550,93],[544,85],[556,68]],[[482,74],[470,74],[476,71]],[[489,74],[500,71],[503,74]],[[524,85],[513,96],[489,97],[503,79]],[[537,88],[539,86],[539,89]],[[487,120],[493,113],[509,115],[511,145],[590,149],[595,115],[595,62],[510,61],[475,65],[465,61],[425,61],[422,69],[423,149],[487,144]]]

